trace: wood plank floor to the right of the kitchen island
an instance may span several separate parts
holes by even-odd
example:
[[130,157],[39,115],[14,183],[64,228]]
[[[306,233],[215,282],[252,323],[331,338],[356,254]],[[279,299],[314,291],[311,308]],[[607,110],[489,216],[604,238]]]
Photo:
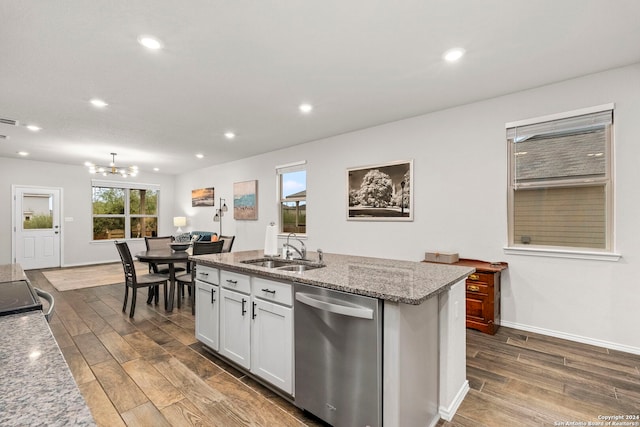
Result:
[[598,417],[611,415],[640,426],[638,355],[505,327],[494,336],[467,329],[467,379],[471,390],[439,427],[607,425]]

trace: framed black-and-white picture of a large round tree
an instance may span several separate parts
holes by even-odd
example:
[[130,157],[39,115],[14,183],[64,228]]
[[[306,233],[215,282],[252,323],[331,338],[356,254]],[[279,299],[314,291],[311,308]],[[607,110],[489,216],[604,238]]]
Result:
[[413,160],[347,169],[347,220],[413,221]]

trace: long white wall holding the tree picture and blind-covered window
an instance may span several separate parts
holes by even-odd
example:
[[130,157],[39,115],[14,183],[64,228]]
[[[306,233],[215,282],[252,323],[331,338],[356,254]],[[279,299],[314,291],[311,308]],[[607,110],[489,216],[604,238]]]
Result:
[[[505,123],[609,102],[616,105],[615,239],[622,259],[505,255]],[[189,230],[217,230],[214,208],[190,207],[192,189],[213,186],[230,208],[223,232],[237,235],[234,249],[261,248],[266,225],[277,218],[275,167],[306,160],[309,249],[407,260],[439,250],[506,261],[505,324],[640,353],[638,117],[634,65],[184,174],[176,179],[175,213],[190,217]],[[407,159],[414,159],[415,220],[347,221],[345,170]],[[251,179],[259,180],[259,219],[234,221],[233,182]]]

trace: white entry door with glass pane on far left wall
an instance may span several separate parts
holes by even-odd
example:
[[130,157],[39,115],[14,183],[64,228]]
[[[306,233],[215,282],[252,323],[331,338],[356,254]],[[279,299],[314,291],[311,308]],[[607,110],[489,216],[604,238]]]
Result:
[[24,270],[60,267],[60,193],[13,186],[13,258]]

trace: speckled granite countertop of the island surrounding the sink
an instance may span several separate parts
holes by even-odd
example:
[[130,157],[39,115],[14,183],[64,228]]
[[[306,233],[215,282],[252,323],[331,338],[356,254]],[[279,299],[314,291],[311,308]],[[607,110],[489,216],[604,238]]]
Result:
[[[191,256],[202,265],[336,289],[386,301],[418,305],[473,273],[473,267],[324,254],[325,267],[303,273],[269,269],[242,261],[263,258],[262,250]],[[318,254],[308,252],[310,260]],[[271,258],[270,258],[271,259]],[[277,259],[277,258],[276,258]]]

